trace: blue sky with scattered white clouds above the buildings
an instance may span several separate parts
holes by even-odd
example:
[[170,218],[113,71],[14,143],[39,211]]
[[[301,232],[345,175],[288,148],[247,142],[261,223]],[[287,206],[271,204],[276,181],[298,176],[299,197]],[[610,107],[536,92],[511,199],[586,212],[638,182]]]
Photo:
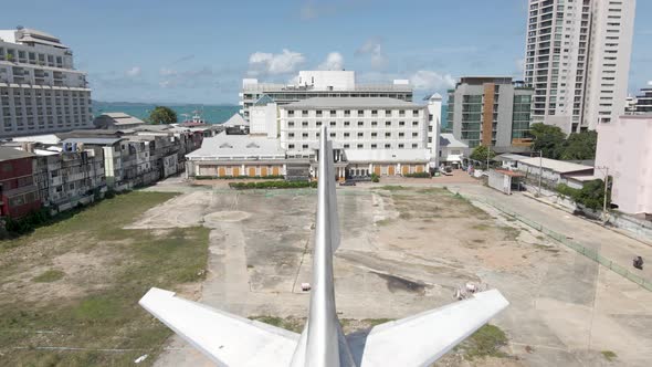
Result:
[[[522,76],[526,0],[9,1],[0,29],[52,33],[88,72],[93,98],[236,103],[242,77],[287,82],[345,67],[410,78],[418,96],[459,76]],[[639,0],[630,92],[652,81],[652,1]]]

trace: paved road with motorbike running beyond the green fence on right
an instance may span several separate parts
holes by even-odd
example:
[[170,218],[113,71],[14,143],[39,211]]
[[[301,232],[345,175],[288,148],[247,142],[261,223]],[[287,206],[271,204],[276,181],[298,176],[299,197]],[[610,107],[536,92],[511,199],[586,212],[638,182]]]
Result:
[[[507,210],[535,221],[544,227],[566,235],[572,241],[599,251],[600,254],[614,263],[628,269],[652,283],[652,247],[627,235],[603,228],[597,223],[575,217],[566,211],[528,198],[522,193],[506,196],[494,189],[479,185],[449,186],[453,192],[471,199],[488,199]],[[643,271],[632,266],[632,259],[642,256],[648,261]]]

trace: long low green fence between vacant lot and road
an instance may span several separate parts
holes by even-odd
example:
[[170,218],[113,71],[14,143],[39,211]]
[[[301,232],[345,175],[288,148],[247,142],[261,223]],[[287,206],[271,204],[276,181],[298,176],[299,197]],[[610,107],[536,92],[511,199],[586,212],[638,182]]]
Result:
[[600,265],[608,268],[612,272],[614,272],[614,273],[637,283],[638,285],[642,286],[643,289],[652,292],[652,282],[630,272],[629,270],[622,268],[621,265],[614,263],[613,261],[600,255],[600,253],[598,251],[587,249],[577,242],[570,241],[566,235],[557,233],[550,229],[547,229],[544,226],[541,226],[540,223],[537,223],[537,222],[532,221],[527,218],[524,218],[523,216],[519,216],[518,213],[516,213],[512,210],[508,210],[495,202],[484,199],[484,203],[486,203],[486,205],[502,211],[503,213],[525,223],[526,226],[534,228],[535,230],[553,238],[555,241],[565,244],[566,247],[577,251],[578,253],[587,256],[588,259],[593,260],[595,262],[599,263]]

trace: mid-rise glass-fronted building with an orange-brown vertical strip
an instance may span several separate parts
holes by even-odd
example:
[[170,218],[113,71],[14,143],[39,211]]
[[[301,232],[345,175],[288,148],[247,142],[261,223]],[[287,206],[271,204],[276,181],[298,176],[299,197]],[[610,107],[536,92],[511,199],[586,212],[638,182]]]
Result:
[[527,147],[534,90],[509,76],[464,76],[449,91],[448,127],[469,145]]

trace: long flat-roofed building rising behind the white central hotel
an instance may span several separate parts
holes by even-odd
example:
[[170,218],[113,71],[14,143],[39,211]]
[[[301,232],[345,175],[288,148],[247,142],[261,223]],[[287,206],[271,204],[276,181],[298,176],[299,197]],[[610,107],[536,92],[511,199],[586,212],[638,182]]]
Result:
[[260,83],[255,78],[242,80],[240,114],[250,118],[250,108],[266,95],[277,105],[314,97],[388,97],[412,101],[409,81],[395,80],[391,84],[357,84],[354,71],[299,71],[292,84]]

